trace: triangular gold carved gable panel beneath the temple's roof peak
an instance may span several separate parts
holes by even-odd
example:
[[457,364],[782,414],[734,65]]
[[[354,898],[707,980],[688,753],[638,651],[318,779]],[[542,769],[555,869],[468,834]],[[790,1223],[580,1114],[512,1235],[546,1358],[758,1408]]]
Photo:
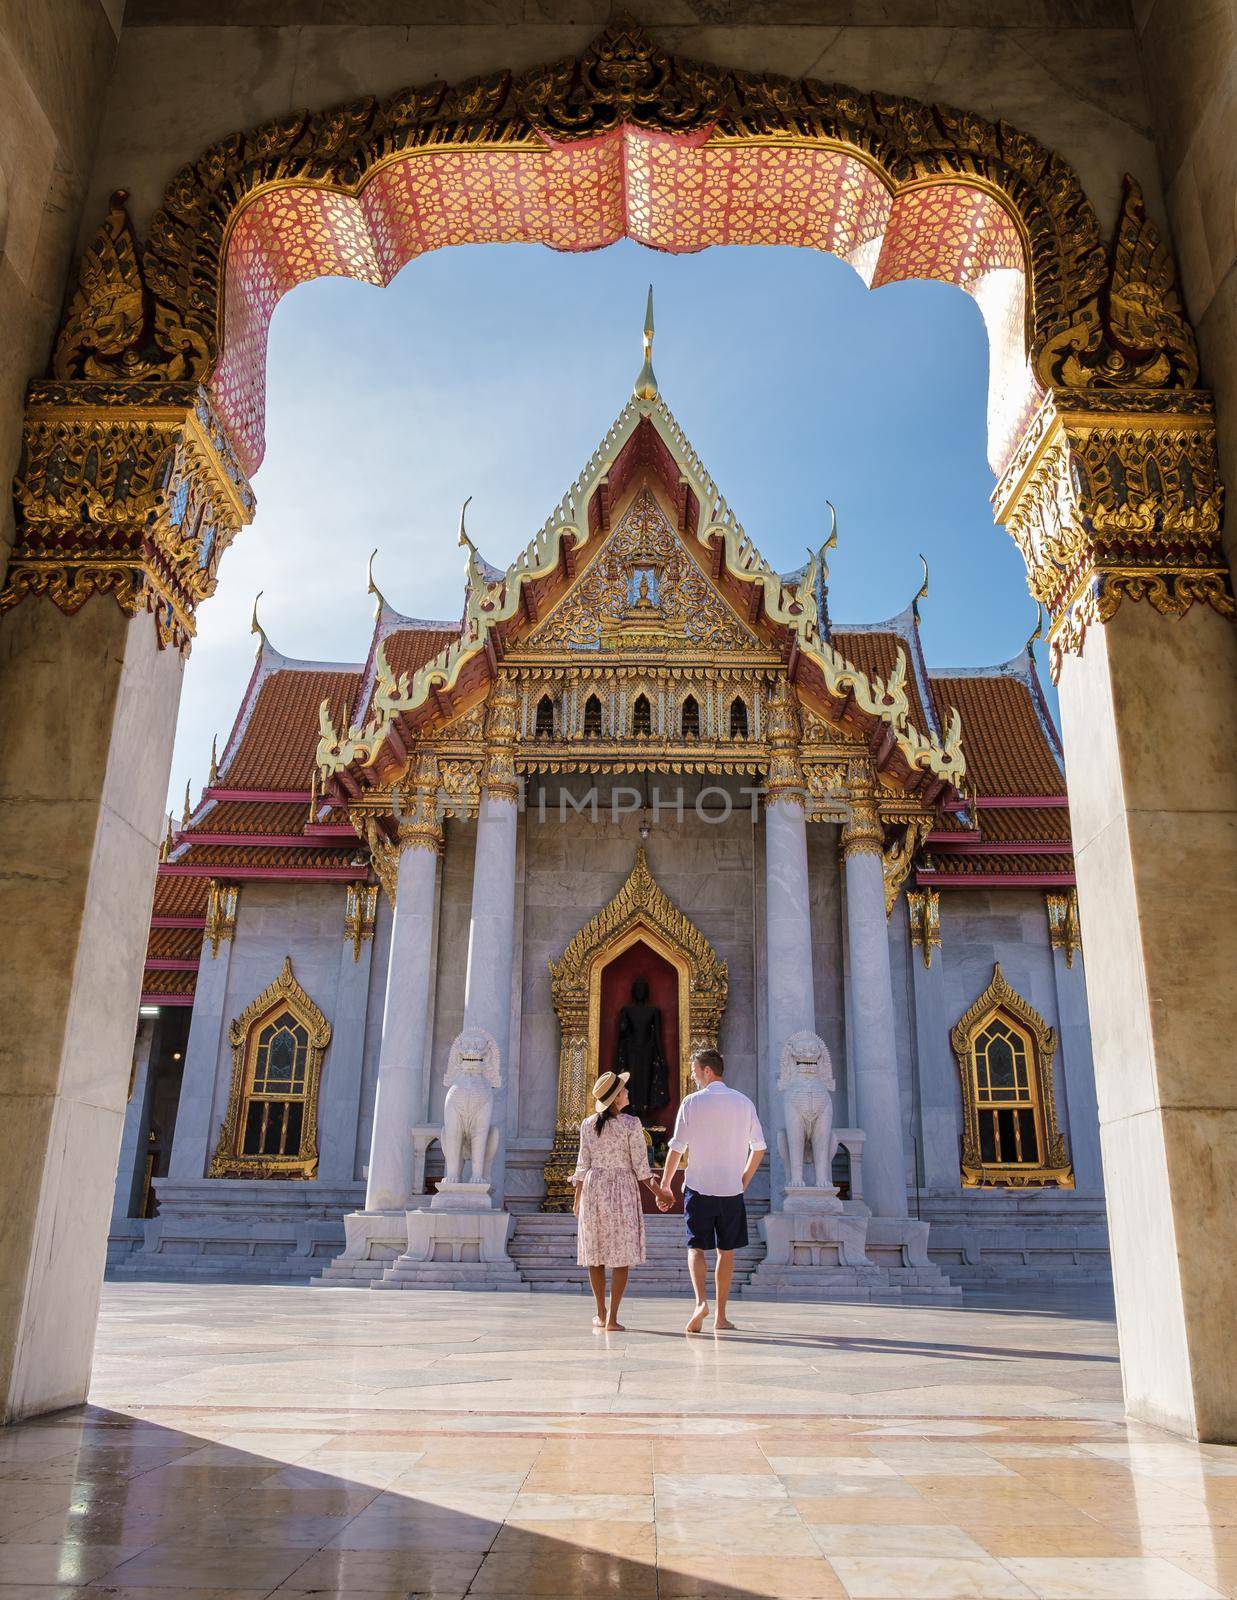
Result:
[[528,648],[645,654],[763,646],[699,570],[645,486]]

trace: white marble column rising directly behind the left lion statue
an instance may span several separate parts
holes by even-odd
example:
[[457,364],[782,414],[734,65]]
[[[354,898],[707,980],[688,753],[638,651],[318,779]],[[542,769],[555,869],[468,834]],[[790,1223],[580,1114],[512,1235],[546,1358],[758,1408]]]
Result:
[[464,974],[464,1029],[485,1029],[498,1045],[501,1083],[494,1090],[494,1126],[499,1130],[499,1141],[490,1168],[490,1194],[496,1206],[502,1205],[506,1195],[507,1170],[518,814],[514,795],[490,789],[482,794]]

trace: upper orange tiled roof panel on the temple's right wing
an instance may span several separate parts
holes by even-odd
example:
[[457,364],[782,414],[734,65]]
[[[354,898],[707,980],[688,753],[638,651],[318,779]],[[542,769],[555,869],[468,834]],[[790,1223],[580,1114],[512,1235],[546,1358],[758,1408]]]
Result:
[[[976,794],[1064,795],[1066,781],[1026,680],[1005,674],[938,677],[933,672],[931,685],[936,704],[957,706],[962,715],[967,781]],[[984,824],[989,816],[984,813]]]

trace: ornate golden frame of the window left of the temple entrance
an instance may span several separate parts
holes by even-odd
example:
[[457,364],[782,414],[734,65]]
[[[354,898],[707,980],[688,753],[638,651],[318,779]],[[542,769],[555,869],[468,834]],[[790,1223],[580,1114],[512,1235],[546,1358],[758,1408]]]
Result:
[[[285,1011],[304,1027],[306,1070],[301,1139],[294,1155],[245,1155],[246,1107],[254,1098],[254,1069],[262,1030]],[[331,1024],[314,1005],[293,976],[291,955],[283,958],[278,978],[253,1000],[227,1027],[232,1045],[232,1085],[219,1128],[219,1142],[210,1165],[210,1178],[317,1178],[318,1174],[318,1090],[322,1062],[331,1042]],[[266,1098],[266,1096],[259,1096]],[[291,1099],[293,1096],[275,1096]]]

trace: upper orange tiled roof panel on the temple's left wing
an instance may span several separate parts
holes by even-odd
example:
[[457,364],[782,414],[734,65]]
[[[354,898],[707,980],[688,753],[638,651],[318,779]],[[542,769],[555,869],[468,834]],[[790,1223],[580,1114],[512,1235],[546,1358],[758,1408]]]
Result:
[[318,746],[318,706],[352,704],[360,672],[350,667],[278,667],[258,685],[240,746],[219,782],[229,789],[307,789]]

